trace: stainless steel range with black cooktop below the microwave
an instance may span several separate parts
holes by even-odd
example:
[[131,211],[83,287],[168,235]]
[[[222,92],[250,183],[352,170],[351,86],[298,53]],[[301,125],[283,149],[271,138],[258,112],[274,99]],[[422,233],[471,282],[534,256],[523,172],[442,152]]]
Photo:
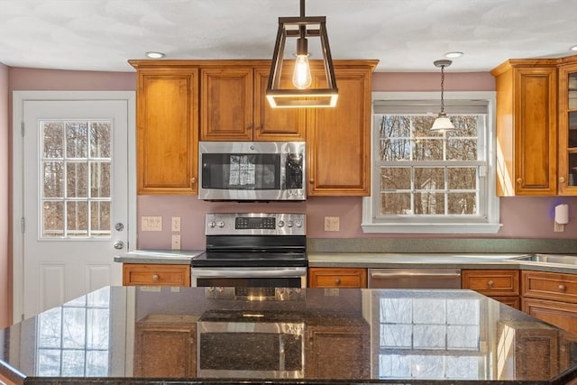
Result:
[[207,214],[206,252],[191,261],[191,285],[306,288],[304,214]]

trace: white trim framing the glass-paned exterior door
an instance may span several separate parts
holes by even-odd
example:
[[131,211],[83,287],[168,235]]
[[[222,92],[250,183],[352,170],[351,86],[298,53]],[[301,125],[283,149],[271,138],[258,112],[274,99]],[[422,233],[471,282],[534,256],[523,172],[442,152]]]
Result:
[[136,248],[136,96],[134,91],[13,91],[13,322],[23,317],[23,105],[30,100],[124,100],[128,106],[128,245]]

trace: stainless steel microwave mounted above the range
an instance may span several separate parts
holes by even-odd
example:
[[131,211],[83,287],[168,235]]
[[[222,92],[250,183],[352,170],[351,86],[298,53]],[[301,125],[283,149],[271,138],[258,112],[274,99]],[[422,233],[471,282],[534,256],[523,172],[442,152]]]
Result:
[[306,142],[199,142],[198,198],[305,200]]

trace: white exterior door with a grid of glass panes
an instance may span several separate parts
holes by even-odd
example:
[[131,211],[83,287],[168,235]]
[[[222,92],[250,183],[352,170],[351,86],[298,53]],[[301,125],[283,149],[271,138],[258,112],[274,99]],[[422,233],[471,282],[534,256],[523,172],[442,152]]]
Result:
[[[22,173],[21,228],[14,229],[22,234],[22,250],[14,244],[14,320],[122,284],[114,255],[127,252],[132,238],[133,98],[85,96],[14,98],[23,122],[20,151],[14,141],[14,169],[22,156],[21,170],[14,170],[14,177]],[[14,105],[14,125],[16,110]]]

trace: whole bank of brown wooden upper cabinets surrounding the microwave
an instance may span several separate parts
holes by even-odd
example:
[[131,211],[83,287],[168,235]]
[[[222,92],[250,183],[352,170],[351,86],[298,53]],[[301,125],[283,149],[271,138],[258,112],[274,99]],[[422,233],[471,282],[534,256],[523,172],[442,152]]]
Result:
[[[138,193],[197,194],[198,141],[306,141],[309,196],[366,196],[371,75],[378,60],[334,60],[334,108],[271,108],[270,60],[129,60],[138,72]],[[322,64],[313,61],[316,84]],[[283,72],[283,87],[290,83]]]

